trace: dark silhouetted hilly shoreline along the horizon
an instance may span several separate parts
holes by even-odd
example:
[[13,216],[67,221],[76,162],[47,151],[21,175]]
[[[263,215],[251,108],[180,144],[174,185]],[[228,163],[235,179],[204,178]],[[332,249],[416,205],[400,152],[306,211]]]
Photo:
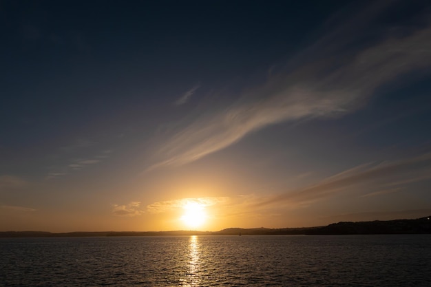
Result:
[[415,220],[338,222],[327,226],[299,228],[226,228],[222,231],[99,231],[51,233],[43,231],[0,231],[0,237],[112,237],[178,235],[360,235],[431,234],[431,215]]

